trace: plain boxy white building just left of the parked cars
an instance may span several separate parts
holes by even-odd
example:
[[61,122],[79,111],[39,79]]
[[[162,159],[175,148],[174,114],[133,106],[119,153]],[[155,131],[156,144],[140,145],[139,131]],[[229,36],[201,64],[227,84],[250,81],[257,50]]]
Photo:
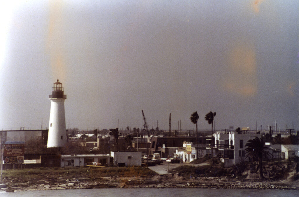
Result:
[[118,167],[141,166],[141,151],[111,151],[111,157],[113,157],[113,165]]

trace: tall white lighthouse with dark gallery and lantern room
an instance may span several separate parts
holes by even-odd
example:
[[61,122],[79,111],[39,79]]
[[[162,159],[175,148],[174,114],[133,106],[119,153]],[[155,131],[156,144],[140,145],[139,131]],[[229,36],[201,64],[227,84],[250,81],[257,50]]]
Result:
[[66,143],[64,100],[62,83],[57,79],[53,84],[52,94],[49,95],[51,101],[48,144],[47,148],[62,147]]

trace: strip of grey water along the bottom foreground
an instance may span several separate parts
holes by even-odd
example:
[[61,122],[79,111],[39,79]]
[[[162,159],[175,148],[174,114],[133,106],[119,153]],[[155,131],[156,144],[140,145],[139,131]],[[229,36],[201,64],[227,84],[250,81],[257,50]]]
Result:
[[184,188],[164,188],[164,189],[156,189],[156,188],[134,188],[134,189],[77,189],[77,190],[35,190],[35,191],[21,191],[14,193],[0,193],[1,197],[7,196],[184,196],[184,197],[198,197],[198,196],[299,196],[298,190],[255,190],[255,189],[184,189]]

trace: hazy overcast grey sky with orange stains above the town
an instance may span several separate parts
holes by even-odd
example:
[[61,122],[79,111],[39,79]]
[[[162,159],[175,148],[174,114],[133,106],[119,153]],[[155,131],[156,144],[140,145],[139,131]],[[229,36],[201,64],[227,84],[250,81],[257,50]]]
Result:
[[[0,129],[298,130],[297,0],[9,1],[1,8]],[[277,129],[278,129],[277,127]]]

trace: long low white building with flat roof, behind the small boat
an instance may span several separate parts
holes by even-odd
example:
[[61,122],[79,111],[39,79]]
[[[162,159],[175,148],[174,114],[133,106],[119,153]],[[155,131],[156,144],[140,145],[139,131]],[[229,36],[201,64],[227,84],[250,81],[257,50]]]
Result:
[[61,155],[60,167],[80,167],[88,162],[98,162],[102,165],[109,165],[109,154],[84,154],[84,155]]

